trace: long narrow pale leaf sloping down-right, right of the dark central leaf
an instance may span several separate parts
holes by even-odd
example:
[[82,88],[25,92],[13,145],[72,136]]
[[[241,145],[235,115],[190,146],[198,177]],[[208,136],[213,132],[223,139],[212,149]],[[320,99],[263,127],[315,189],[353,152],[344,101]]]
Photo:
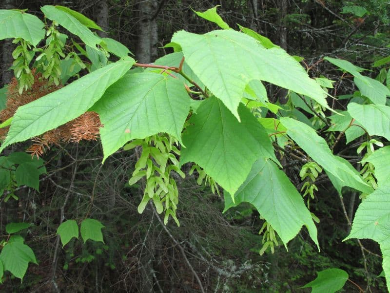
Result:
[[372,189],[358,174],[353,171],[351,164],[331,153],[325,139],[317,135],[315,130],[295,119],[282,117],[280,122],[288,129],[287,134],[302,149],[327,172],[337,177],[342,186],[349,186],[365,193],[370,193]]

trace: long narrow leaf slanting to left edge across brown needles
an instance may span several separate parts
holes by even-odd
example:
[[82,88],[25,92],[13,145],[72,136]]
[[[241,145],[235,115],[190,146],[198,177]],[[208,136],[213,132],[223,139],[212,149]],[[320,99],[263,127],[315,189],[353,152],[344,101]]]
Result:
[[129,57],[109,64],[58,91],[19,107],[0,152],[10,144],[40,135],[83,114],[134,62]]

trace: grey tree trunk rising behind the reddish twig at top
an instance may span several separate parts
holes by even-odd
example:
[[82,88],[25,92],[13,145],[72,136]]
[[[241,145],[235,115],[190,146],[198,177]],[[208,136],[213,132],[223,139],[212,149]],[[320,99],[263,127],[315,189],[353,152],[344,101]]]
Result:
[[140,63],[151,63],[157,57],[157,23],[156,0],[144,0],[139,3],[141,21],[139,22],[139,37],[137,59]]

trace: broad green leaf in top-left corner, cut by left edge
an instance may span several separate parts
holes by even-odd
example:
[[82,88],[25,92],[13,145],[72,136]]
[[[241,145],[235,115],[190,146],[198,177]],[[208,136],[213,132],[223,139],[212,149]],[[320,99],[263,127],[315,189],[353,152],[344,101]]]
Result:
[[44,26],[35,15],[18,10],[0,10],[0,40],[22,38],[37,46],[45,36]]

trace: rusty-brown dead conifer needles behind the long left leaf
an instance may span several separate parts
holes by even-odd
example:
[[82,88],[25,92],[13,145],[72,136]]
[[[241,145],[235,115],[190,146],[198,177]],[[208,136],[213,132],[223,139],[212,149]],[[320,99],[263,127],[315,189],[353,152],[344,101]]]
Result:
[[[8,84],[6,107],[0,111],[0,122],[4,122],[14,116],[20,106],[33,102],[62,87],[61,85],[49,84],[35,69],[32,72],[34,84],[31,89],[23,91],[22,94],[19,94],[19,84],[15,77]],[[86,112],[62,126],[33,138],[33,144],[27,149],[27,152],[39,158],[45,153],[46,149],[50,149],[50,146],[53,145],[58,146],[61,143],[66,144],[70,142],[78,143],[81,140],[97,140],[100,127],[102,127],[102,124],[100,123],[98,113]],[[1,141],[7,136],[8,130],[9,126],[0,128]]]

